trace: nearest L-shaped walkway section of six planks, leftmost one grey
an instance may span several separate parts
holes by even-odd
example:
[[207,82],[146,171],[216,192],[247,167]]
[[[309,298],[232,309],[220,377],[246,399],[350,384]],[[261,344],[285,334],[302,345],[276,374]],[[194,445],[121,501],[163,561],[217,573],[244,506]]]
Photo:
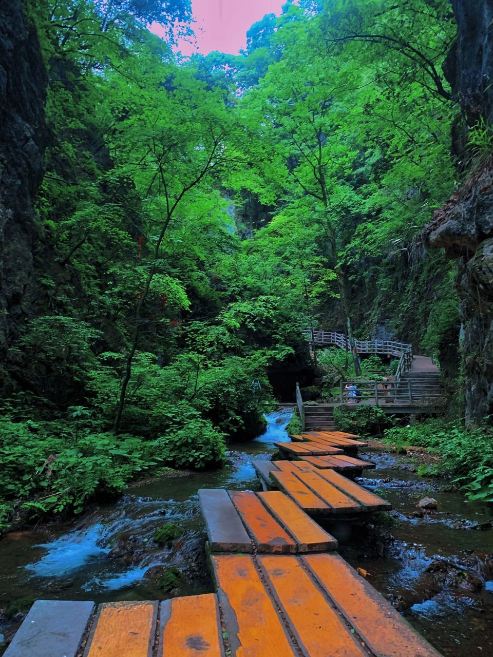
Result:
[[212,555],[218,596],[37,600],[5,657],[440,657],[339,555]]

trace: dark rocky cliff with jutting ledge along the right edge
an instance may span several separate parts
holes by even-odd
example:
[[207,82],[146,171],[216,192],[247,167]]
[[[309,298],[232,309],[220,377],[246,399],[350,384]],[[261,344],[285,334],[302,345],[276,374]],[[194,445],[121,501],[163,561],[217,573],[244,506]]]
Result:
[[[493,120],[493,0],[452,0],[458,39],[444,72],[459,99],[461,118],[452,150],[467,156],[467,127]],[[484,158],[425,230],[427,244],[458,260],[463,323],[467,421],[493,417],[493,154]]]

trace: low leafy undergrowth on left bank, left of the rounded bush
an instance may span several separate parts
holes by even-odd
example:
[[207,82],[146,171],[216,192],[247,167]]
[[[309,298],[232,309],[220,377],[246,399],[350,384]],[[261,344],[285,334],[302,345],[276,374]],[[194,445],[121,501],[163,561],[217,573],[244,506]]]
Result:
[[89,499],[120,493],[163,459],[156,445],[123,434],[77,432],[64,422],[0,420],[0,528],[14,507],[36,518],[82,511]]

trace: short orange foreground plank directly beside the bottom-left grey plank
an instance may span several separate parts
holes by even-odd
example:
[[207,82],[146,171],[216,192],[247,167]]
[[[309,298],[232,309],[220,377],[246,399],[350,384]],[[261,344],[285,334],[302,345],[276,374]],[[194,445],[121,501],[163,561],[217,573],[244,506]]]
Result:
[[152,657],[157,602],[105,602],[99,606],[85,657]]

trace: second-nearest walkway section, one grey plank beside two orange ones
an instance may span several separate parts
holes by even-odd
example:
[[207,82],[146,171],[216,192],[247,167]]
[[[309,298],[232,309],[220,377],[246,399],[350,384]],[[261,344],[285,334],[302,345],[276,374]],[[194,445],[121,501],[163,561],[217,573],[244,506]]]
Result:
[[199,500],[212,552],[294,554],[337,549],[336,539],[279,491],[200,489]]

